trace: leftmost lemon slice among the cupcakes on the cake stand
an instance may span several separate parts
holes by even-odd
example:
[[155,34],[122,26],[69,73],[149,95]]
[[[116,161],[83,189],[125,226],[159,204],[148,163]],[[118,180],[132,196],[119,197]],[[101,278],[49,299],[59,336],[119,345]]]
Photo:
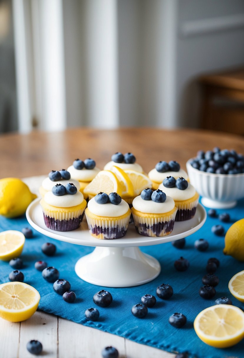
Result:
[[117,176],[110,170],[101,170],[95,178],[84,188],[84,193],[88,195],[97,195],[99,192],[106,194],[122,194],[122,187]]

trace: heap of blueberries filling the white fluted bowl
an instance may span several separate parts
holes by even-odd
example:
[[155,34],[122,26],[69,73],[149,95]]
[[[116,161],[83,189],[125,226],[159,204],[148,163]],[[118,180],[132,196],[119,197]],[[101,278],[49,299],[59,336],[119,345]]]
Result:
[[199,150],[196,158],[190,161],[195,169],[215,174],[240,174],[244,173],[244,156],[235,150],[215,147],[204,152]]

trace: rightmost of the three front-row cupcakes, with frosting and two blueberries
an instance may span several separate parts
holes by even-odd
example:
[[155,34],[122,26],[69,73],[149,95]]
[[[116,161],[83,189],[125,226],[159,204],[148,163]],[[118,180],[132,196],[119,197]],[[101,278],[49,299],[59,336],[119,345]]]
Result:
[[162,190],[153,192],[150,188],[144,189],[132,205],[132,215],[139,234],[162,237],[172,232],[177,208],[174,200]]

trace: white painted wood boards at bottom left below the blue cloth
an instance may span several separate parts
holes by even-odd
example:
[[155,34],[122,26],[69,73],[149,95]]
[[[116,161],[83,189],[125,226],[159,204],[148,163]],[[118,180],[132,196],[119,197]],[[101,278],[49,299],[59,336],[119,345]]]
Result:
[[31,339],[39,340],[47,358],[99,358],[104,347],[118,349],[119,358],[173,358],[175,354],[132,342],[98,329],[36,311],[27,321],[12,323],[0,319],[0,357],[33,358],[26,349]]

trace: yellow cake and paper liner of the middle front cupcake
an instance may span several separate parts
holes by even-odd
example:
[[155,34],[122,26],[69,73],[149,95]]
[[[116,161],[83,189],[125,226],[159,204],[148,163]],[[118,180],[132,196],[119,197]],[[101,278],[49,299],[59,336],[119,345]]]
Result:
[[130,220],[131,212],[125,218],[94,219],[86,212],[89,232],[97,239],[119,239],[125,236]]

